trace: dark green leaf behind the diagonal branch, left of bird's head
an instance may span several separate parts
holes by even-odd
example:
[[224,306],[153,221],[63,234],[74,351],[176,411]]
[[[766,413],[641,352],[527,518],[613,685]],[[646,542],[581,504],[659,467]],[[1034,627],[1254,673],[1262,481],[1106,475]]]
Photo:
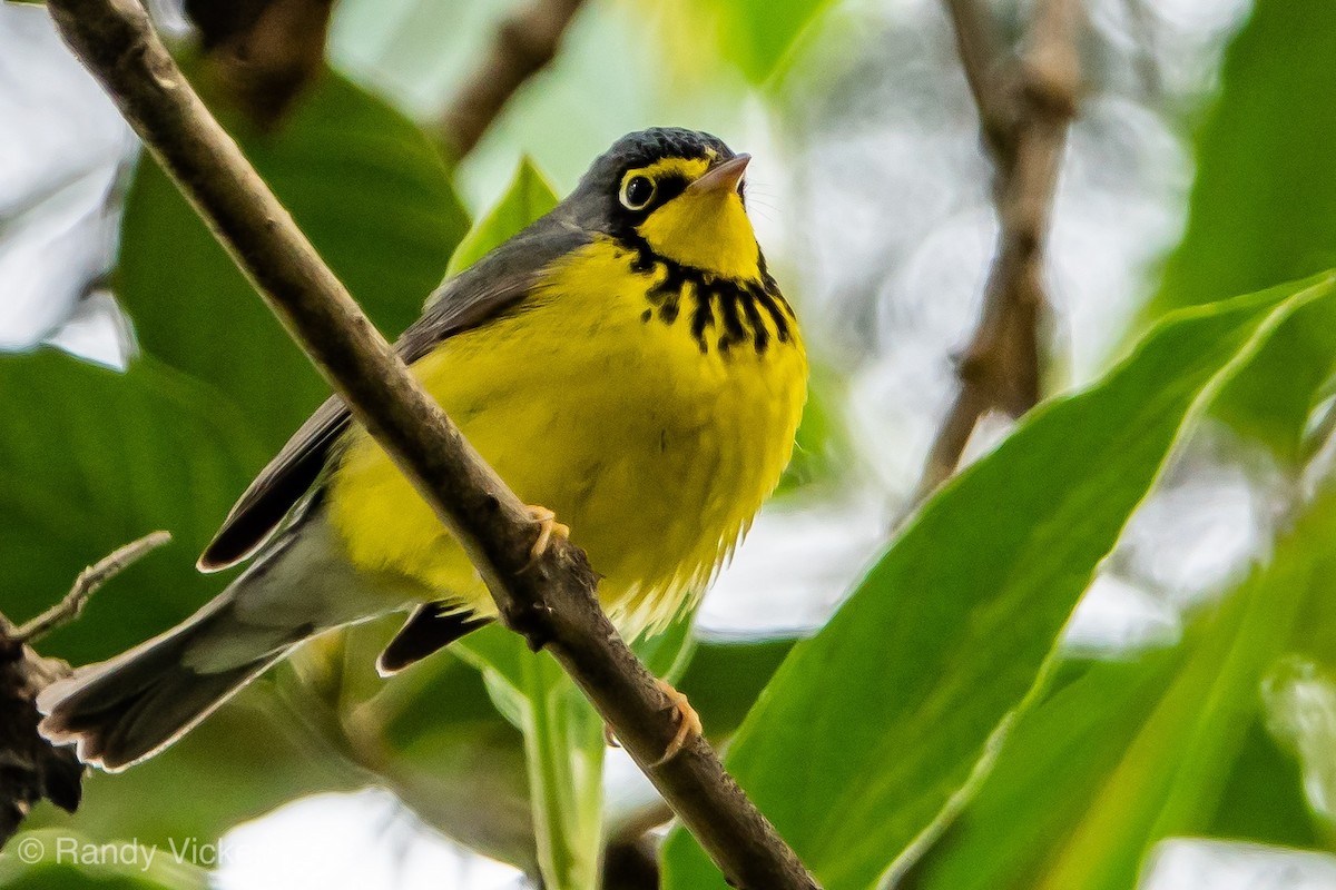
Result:
[[[274,133],[255,132],[223,103],[214,104],[371,320],[389,336],[398,335],[441,282],[468,227],[426,136],[333,72],[317,80]],[[142,348],[231,396],[266,450],[277,451],[329,394],[195,211],[147,157],[126,199],[115,284]]]

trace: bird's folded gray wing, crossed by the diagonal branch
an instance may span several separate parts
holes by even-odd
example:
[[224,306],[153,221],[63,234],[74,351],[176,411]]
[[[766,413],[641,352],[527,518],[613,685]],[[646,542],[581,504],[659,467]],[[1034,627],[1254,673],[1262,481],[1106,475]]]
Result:
[[[395,350],[409,364],[417,362],[437,343],[522,300],[553,260],[587,243],[589,236],[562,216],[561,208],[544,216],[442,284]],[[265,544],[319,479],[351,422],[343,400],[330,396],[246,488],[204,548],[199,568],[227,568]]]

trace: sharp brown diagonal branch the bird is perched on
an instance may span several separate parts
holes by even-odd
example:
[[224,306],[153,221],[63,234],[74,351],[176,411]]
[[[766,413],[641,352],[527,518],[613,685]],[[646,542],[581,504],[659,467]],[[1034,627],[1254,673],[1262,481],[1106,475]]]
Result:
[[599,608],[584,554],[538,526],[417,384],[186,83],[136,0],[51,0],[65,41],[311,360],[436,508],[502,620],[569,671],[684,825],[739,887],[815,887],[704,739],[653,765],[676,715]]

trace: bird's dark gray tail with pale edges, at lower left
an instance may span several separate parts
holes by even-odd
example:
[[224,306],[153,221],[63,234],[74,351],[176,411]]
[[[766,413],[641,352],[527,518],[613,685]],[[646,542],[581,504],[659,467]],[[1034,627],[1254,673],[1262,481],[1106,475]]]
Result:
[[115,773],[167,747],[318,628],[247,619],[247,572],[186,623],[37,698],[41,734]]

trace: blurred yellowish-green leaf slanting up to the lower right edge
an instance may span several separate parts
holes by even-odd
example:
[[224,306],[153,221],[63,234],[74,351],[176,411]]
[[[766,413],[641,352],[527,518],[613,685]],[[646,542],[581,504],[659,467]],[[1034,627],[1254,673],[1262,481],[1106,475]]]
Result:
[[[1086,798],[1070,837],[1025,886],[1128,887],[1156,842],[1220,823],[1234,765],[1260,717],[1263,679],[1301,630],[1305,604],[1336,595],[1336,498],[1325,500],[1224,603],[1117,769]],[[1336,651],[1336,638],[1327,642]]]

